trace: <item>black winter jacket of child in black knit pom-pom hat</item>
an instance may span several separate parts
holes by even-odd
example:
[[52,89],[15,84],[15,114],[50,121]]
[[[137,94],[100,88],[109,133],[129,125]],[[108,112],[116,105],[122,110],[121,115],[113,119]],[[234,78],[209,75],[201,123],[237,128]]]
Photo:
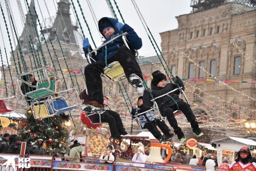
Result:
[[[177,80],[176,80],[176,83],[182,87],[182,90],[184,91],[184,84],[183,84],[183,81],[178,77],[176,76]],[[159,97],[167,92],[170,92],[174,89],[176,89],[177,86],[176,84],[174,83],[167,83],[166,86],[164,88],[162,87],[156,87],[154,86],[152,83],[151,83],[151,89],[152,89],[152,95],[154,98],[156,97]],[[183,101],[182,99],[179,98],[179,94],[180,94],[180,91],[177,90],[175,92],[172,92],[170,93],[169,95],[176,101],[176,102],[179,102],[179,101]],[[161,97],[161,98],[158,98],[156,99],[156,103],[158,105],[158,108],[160,110],[160,112],[162,113],[163,112],[163,109],[166,108],[166,107],[172,107],[173,105],[176,105],[175,101],[167,95]],[[153,102],[150,101],[150,93],[147,92],[146,90],[144,91],[143,93],[143,105],[146,107],[146,108],[150,108],[153,106]]]

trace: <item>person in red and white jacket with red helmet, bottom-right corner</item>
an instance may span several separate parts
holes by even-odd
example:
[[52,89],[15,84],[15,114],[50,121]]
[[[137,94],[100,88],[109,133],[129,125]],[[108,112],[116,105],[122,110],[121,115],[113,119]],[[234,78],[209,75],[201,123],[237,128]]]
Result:
[[238,151],[237,159],[230,164],[229,171],[256,171],[256,163],[252,161],[248,147],[242,147]]

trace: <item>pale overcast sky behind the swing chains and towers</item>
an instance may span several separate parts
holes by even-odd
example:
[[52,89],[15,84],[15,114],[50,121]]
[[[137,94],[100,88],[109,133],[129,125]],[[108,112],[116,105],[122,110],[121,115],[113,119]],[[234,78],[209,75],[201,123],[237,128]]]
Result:
[[[23,27],[22,27],[22,19],[20,17],[19,10],[18,10],[17,1],[10,0],[13,19],[15,21],[15,25],[18,30],[18,34],[20,36],[22,33],[22,30],[23,30]],[[27,10],[25,8],[26,0],[19,0],[19,1],[21,2],[23,11],[26,14],[27,13]],[[6,13],[5,1],[0,0],[0,2],[1,2],[1,6],[4,10],[4,15],[8,22],[8,26],[9,26],[8,16]],[[42,11],[42,15],[41,15],[39,7],[38,7],[38,2],[39,2],[40,9]],[[45,2],[48,7],[50,15],[54,16],[54,15],[56,15],[54,3],[56,6],[56,2],[59,2],[59,0],[35,0],[36,10],[39,15],[39,19],[40,19],[41,23],[43,23],[42,16],[44,18],[49,17],[47,8],[45,6]],[[81,16],[80,8],[77,5],[77,1],[73,0],[73,2],[75,4],[76,11],[79,14],[79,19],[80,19],[80,22],[82,23],[82,28],[84,30],[84,34],[86,37],[90,37],[88,29],[85,26],[85,22]],[[146,31],[144,30],[143,25],[141,24],[141,21],[137,15],[137,12],[135,11],[132,1],[131,0],[116,0],[116,2],[117,2],[117,5],[119,6],[119,9],[121,11],[121,14],[122,14],[125,22],[127,24],[129,24],[132,28],[134,28],[134,30],[137,32],[139,37],[142,38],[143,47],[139,50],[139,55],[146,56],[146,57],[155,56],[156,53],[152,47],[152,44],[150,43],[150,41],[147,37]],[[28,0],[28,3],[30,4],[30,0]],[[86,3],[86,0],[81,0],[80,3],[81,3],[81,7],[83,8],[82,10],[84,12],[85,19],[88,22],[90,30],[92,32],[93,39],[94,39],[96,45],[99,46],[101,44],[101,42],[100,42],[101,39],[100,39],[99,33],[95,27],[91,12],[88,8],[88,4]],[[91,3],[91,6],[93,8],[93,11],[94,11],[94,14],[95,14],[97,20],[99,20],[102,17],[111,17],[110,10],[109,10],[105,0],[91,0],[90,3]],[[112,0],[111,0],[111,3],[114,6],[116,14],[118,15],[119,22],[120,21],[122,22],[121,17],[119,16],[118,11],[115,7],[115,4]],[[143,17],[147,23],[147,26],[149,27],[150,31],[152,32],[154,38],[156,39],[156,42],[159,47],[161,47],[161,38],[159,36],[159,33],[167,31],[167,30],[176,29],[178,24],[177,24],[177,20],[175,17],[182,15],[182,14],[188,14],[192,10],[192,8],[190,7],[190,0],[157,0],[157,1],[156,0],[136,0],[136,3],[137,3],[137,6],[138,6],[141,14],[143,15]],[[71,4],[71,6],[72,6],[72,4]],[[70,10],[70,12],[71,12],[72,20],[75,22],[74,13],[72,10]],[[11,48],[10,48],[9,40],[7,37],[6,27],[4,26],[2,14],[0,17],[0,24],[1,24],[1,29],[2,29],[3,35],[4,35],[4,43],[5,43],[6,49],[8,52],[10,52]],[[9,31],[10,31],[10,27],[9,27]],[[12,36],[11,36],[11,39],[12,39]],[[90,40],[90,38],[89,38],[89,40]],[[12,43],[13,43],[13,41],[12,41]],[[17,43],[17,41],[16,41],[16,43]],[[90,40],[90,43],[92,43],[91,40]],[[3,61],[6,61],[6,56],[5,56],[5,54],[3,54],[3,42],[2,41],[0,41],[0,46],[1,46],[1,50],[2,50]],[[15,46],[13,45],[13,47],[15,47]],[[15,49],[15,48],[13,48],[13,49]],[[10,57],[10,55],[8,53],[8,58],[9,57]]]

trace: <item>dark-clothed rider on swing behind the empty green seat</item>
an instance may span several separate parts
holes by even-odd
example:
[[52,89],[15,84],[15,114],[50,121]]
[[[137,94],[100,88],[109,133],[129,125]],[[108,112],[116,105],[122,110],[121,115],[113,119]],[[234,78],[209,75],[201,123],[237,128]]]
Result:
[[[29,76],[29,79],[28,79]],[[36,86],[37,80],[34,78],[34,76],[32,74],[29,74],[28,76],[22,76],[22,80],[26,81],[26,82],[31,82],[32,86]],[[36,90],[36,87],[30,87],[28,86],[28,84],[22,83],[20,86],[21,92],[23,94],[26,94],[27,92]],[[31,104],[31,98],[30,97],[25,97],[27,100],[28,105]]]

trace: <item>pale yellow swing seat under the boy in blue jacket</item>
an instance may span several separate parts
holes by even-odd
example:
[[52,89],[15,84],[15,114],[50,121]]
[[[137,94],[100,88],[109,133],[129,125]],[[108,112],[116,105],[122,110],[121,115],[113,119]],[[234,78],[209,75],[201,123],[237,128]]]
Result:
[[109,68],[105,67],[102,76],[110,79],[111,81],[121,82],[126,79],[124,69],[118,61],[110,63]]

